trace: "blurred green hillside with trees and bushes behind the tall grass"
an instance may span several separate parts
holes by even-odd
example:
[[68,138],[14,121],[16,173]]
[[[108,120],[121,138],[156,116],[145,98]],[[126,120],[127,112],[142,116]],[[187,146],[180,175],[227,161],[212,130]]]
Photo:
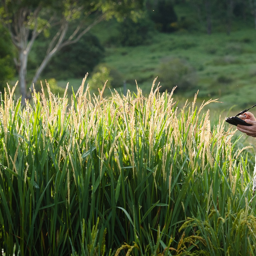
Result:
[[[29,95],[32,82],[39,90],[45,80],[60,95],[69,82],[71,95],[72,87],[76,92],[88,72],[91,92],[98,93],[108,80],[105,96],[111,95],[108,87],[136,93],[135,80],[146,96],[158,77],[162,92],[177,86],[174,97],[180,102],[193,99],[199,90],[199,101],[219,98],[223,102],[215,104],[218,110],[233,107],[238,113],[256,103],[256,0],[42,2],[1,3],[2,92],[6,83],[11,87],[17,80],[20,83],[22,58],[27,58],[25,89],[18,84],[16,96],[25,95],[21,90]],[[23,27],[17,28],[17,20],[22,20],[19,15],[24,10],[27,39],[21,41],[17,38],[22,38]],[[54,18],[63,17],[70,32],[63,35],[60,49],[35,79],[45,57],[55,49],[54,37],[60,41],[61,25],[66,24],[59,22],[56,27]],[[80,37],[74,34],[78,28],[85,31]],[[72,44],[65,43],[75,37],[79,38]]]

